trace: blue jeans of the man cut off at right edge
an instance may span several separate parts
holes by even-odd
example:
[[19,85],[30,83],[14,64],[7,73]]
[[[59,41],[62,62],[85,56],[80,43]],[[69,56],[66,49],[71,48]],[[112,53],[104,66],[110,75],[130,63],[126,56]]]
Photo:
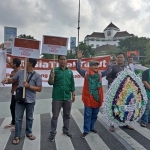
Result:
[[147,123],[149,121],[149,117],[150,117],[150,100],[148,100],[148,102],[146,104],[146,109],[145,109],[145,112],[141,118],[141,122]]

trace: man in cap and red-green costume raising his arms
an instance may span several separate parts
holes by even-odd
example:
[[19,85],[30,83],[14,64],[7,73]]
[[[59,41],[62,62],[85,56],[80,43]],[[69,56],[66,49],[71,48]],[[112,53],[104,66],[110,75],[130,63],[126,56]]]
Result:
[[106,76],[106,74],[111,71],[111,67],[109,66],[106,71],[100,73],[98,72],[99,62],[91,61],[89,63],[89,70],[82,70],[82,51],[77,52],[77,58],[76,70],[82,77],[84,77],[84,85],[82,90],[82,101],[84,103],[84,132],[81,135],[81,138],[85,138],[89,132],[97,133],[94,129],[94,124],[97,120],[99,107],[103,103],[101,78]]

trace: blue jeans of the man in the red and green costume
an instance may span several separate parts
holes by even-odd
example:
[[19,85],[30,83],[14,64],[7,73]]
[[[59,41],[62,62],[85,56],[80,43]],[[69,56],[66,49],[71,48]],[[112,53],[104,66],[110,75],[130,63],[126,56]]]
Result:
[[83,130],[85,133],[89,133],[90,130],[94,129],[94,124],[97,120],[99,108],[84,107],[84,126]]

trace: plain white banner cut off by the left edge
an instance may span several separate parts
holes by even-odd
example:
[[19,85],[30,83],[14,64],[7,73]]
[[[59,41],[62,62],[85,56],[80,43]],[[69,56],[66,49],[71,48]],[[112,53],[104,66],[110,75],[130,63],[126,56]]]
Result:
[[0,50],[0,87],[2,86],[1,81],[6,77],[6,54],[4,50]]

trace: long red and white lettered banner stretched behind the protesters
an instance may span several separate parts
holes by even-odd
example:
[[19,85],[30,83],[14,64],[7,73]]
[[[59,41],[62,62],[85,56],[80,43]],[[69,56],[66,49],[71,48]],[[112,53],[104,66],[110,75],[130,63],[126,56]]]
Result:
[[[9,59],[14,58],[14,56],[7,54]],[[19,57],[21,59],[21,68],[24,68],[24,58]],[[82,59],[82,68],[85,70],[89,69],[89,62],[91,60],[96,60],[100,63],[99,70],[104,71],[107,69],[110,56],[98,56],[93,58],[83,58]],[[83,86],[84,78],[76,71],[76,59],[68,59],[67,60],[67,67],[69,67],[73,71],[74,79],[75,79],[75,86]],[[49,78],[50,71],[54,68],[53,67],[53,59],[37,59],[37,64],[35,66],[35,71],[38,72],[42,77],[42,86],[43,87],[49,87],[47,81]],[[58,61],[55,61],[55,66],[58,67]],[[7,73],[6,76],[9,76],[11,72],[11,68],[9,65],[7,65]],[[107,85],[107,80],[105,78],[102,79],[103,85]],[[7,85],[10,86],[10,85]]]

